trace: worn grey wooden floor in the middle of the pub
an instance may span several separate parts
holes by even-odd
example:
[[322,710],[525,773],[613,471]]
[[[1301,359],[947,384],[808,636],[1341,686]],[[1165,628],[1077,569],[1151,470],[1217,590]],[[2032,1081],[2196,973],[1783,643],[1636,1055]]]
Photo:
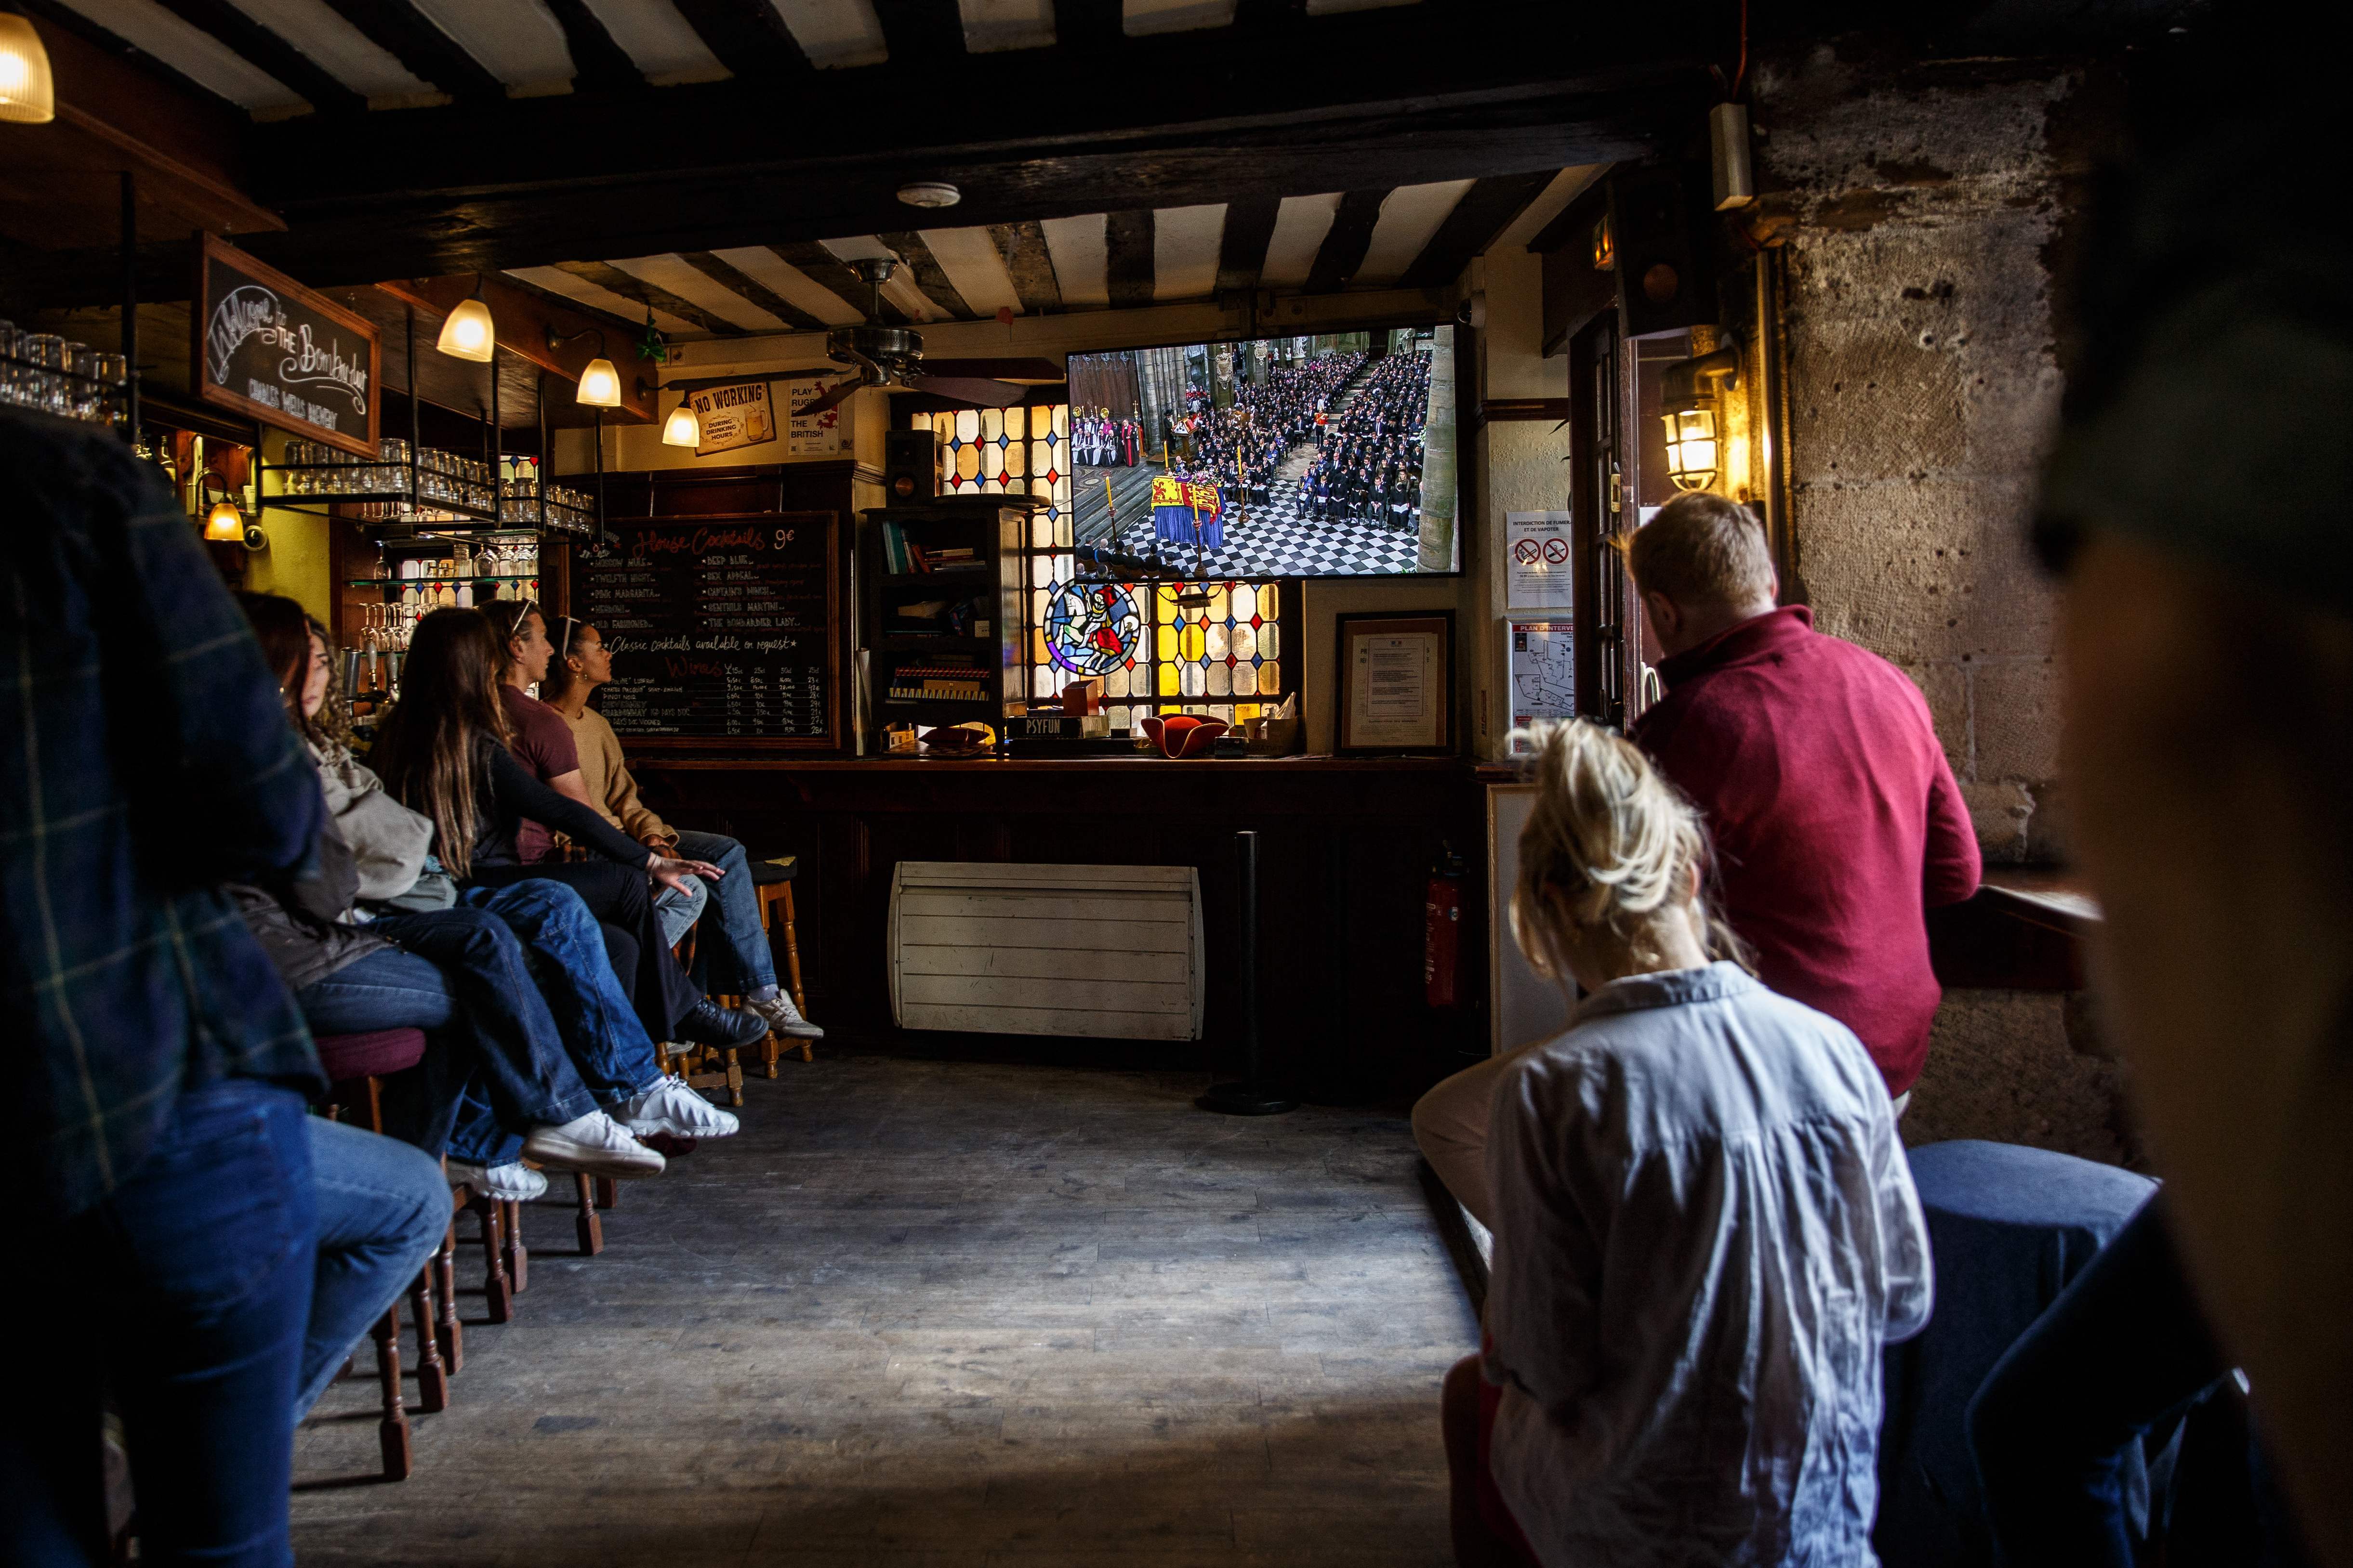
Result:
[[[1405,1117],[1200,1088],[786,1063],[600,1258],[527,1213],[529,1291],[468,1328],[416,1474],[299,1490],[299,1561],[1449,1561],[1438,1380],[1478,1326]],[[369,1361],[301,1481],[369,1469]]]

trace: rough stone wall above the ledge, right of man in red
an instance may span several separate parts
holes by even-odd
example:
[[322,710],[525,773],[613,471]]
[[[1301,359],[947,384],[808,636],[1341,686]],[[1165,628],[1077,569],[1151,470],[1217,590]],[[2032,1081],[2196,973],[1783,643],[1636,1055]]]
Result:
[[2024,536],[2061,388],[2054,110],[2078,85],[1828,47],[1755,75],[1793,590],[1920,682],[1995,863],[2054,853],[2052,592]]

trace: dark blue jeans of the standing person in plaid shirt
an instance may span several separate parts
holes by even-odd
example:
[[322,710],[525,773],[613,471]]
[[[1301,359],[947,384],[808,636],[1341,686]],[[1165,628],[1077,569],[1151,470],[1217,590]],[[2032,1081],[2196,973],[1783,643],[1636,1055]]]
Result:
[[106,1563],[99,1418],[122,1408],[144,1561],[282,1568],[315,1272],[311,1117],[292,1088],[179,1098],[113,1194],[24,1239],[73,1298],[71,1345],[0,1401],[0,1561]]

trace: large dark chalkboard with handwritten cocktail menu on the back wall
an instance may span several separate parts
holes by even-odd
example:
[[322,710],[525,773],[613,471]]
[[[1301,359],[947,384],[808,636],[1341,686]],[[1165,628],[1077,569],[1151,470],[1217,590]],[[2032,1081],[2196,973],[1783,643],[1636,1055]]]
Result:
[[616,522],[572,604],[612,649],[598,710],[640,748],[838,748],[833,512]]

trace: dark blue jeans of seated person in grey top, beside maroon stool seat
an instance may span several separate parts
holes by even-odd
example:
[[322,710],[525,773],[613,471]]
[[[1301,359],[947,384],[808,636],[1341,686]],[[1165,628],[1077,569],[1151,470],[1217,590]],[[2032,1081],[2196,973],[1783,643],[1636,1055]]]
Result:
[[433,910],[388,914],[374,931],[402,950],[369,952],[301,987],[294,1001],[313,1034],[426,1032],[421,1070],[386,1084],[386,1133],[438,1157],[468,1086],[515,1131],[562,1126],[595,1110],[506,922],[482,910]]

